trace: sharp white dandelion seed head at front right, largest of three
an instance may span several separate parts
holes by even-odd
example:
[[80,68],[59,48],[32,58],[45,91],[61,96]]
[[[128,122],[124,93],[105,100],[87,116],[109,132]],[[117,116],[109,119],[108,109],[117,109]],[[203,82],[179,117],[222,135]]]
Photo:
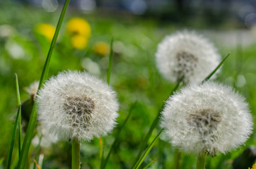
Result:
[[243,96],[214,82],[191,85],[170,96],[161,126],[186,153],[211,156],[243,144],[252,133],[252,115]]

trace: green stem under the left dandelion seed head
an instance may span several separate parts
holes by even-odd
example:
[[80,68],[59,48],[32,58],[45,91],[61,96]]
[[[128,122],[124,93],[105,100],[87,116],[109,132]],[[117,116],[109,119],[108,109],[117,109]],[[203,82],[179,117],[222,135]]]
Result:
[[80,169],[80,142],[72,141],[72,169]]

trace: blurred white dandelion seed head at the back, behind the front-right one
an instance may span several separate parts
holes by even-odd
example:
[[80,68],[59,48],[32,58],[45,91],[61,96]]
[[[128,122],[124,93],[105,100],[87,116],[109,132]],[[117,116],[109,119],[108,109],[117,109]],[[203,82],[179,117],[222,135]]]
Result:
[[221,61],[211,42],[195,32],[176,32],[158,44],[156,63],[163,76],[186,84],[199,84]]

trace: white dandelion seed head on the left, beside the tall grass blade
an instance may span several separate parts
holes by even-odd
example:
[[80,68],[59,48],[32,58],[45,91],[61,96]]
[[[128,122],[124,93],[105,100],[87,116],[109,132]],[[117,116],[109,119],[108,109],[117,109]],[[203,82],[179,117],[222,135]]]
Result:
[[59,139],[89,141],[115,127],[116,93],[86,72],[67,71],[51,77],[37,97],[38,119]]

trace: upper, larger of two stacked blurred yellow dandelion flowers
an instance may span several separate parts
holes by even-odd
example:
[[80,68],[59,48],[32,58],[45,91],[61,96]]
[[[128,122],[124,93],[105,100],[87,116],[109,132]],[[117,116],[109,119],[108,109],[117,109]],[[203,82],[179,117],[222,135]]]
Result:
[[91,26],[83,18],[72,18],[67,23],[66,32],[69,35],[83,35],[88,38],[91,36]]

